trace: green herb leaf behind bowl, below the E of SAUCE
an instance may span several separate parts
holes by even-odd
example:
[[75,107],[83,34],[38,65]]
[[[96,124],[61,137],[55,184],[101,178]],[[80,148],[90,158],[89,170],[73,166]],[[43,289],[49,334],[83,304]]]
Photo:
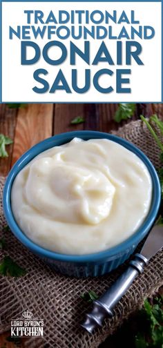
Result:
[[121,122],[122,119],[131,118],[135,113],[136,104],[119,104],[119,107],[115,113],[115,122]]

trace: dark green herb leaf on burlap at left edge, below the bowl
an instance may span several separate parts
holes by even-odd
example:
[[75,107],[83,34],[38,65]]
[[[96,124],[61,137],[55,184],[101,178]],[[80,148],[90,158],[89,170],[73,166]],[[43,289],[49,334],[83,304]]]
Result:
[[26,270],[21,268],[10,256],[5,256],[0,264],[0,273],[2,276],[21,277],[26,274]]

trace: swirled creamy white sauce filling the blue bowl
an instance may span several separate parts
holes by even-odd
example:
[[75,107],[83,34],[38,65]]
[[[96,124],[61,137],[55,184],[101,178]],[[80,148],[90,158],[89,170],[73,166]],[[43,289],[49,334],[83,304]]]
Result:
[[15,220],[41,247],[82,255],[131,236],[151,205],[144,163],[108,139],[79,138],[35,157],[12,186]]

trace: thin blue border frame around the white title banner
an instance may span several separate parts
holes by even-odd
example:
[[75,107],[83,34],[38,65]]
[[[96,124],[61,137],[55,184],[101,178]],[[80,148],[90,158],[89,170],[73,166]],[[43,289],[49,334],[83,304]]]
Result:
[[[0,104],[12,103],[12,104],[40,104],[40,101],[2,101],[2,3],[3,2],[24,2],[24,0],[0,0]],[[100,0],[28,0],[28,2],[100,2]],[[162,76],[162,86],[161,86],[161,100],[160,101],[123,101],[123,103],[146,103],[146,104],[159,104],[163,103],[163,0],[102,0],[102,2],[160,2],[162,6],[162,31],[161,31],[161,41],[162,41],[162,64],[161,64],[161,76]],[[44,101],[41,104],[117,104],[122,101]]]

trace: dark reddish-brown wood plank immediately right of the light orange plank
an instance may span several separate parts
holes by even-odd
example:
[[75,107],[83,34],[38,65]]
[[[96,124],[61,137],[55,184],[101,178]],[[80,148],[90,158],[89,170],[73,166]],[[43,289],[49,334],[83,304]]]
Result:
[[81,131],[84,124],[70,124],[75,117],[84,117],[84,104],[55,104],[53,134]]

